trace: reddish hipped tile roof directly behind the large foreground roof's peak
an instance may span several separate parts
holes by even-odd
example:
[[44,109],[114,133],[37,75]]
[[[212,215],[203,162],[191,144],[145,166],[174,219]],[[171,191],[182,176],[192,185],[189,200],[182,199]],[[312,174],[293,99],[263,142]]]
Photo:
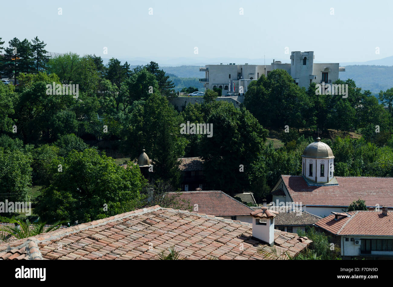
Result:
[[169,195],[176,196],[181,209],[191,207],[198,213],[214,216],[241,216],[250,215],[252,212],[250,207],[222,191],[182,191],[181,193],[169,193]]

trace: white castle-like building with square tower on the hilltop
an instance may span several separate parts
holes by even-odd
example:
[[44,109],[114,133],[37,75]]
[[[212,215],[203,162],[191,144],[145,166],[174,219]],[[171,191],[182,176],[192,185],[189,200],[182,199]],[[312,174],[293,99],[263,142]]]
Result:
[[267,76],[275,69],[283,69],[294,79],[294,83],[307,88],[310,83],[331,84],[338,80],[338,72],[345,71],[345,67],[340,67],[339,63],[314,63],[314,52],[291,52],[290,63],[274,61],[270,65],[206,65],[199,68],[205,72],[205,77],[199,82],[204,83],[206,89],[214,87],[222,89],[222,94],[241,93],[239,87],[243,87],[246,93],[247,87],[253,80],[258,80],[262,75]]

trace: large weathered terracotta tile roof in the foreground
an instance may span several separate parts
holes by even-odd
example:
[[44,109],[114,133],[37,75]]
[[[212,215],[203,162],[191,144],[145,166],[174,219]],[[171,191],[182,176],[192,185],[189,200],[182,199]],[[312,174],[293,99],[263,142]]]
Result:
[[[158,259],[174,247],[181,259],[288,259],[311,243],[275,230],[277,256],[252,237],[252,224],[158,205],[0,245],[0,259]],[[281,256],[284,254],[284,256]]]

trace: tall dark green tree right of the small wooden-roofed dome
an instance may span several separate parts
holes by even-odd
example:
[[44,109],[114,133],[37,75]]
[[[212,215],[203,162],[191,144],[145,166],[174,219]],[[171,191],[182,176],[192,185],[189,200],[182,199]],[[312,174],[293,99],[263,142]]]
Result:
[[184,155],[186,145],[185,138],[180,135],[182,122],[182,116],[158,93],[134,103],[124,123],[125,149],[131,159],[146,149],[154,161],[154,176],[170,181],[173,186],[178,185],[178,158]]

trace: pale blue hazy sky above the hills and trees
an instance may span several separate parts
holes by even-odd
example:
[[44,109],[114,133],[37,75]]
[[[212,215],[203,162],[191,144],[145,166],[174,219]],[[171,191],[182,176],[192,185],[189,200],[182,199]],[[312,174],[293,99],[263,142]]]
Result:
[[[0,4],[0,37],[6,44],[13,37],[38,36],[48,51],[58,53],[196,61],[198,57],[263,59],[266,54],[287,62],[285,47],[314,51],[315,60],[325,62],[393,55],[392,1],[2,0]],[[239,15],[240,8],[244,15]],[[103,54],[103,47],[108,47],[108,54]]]

